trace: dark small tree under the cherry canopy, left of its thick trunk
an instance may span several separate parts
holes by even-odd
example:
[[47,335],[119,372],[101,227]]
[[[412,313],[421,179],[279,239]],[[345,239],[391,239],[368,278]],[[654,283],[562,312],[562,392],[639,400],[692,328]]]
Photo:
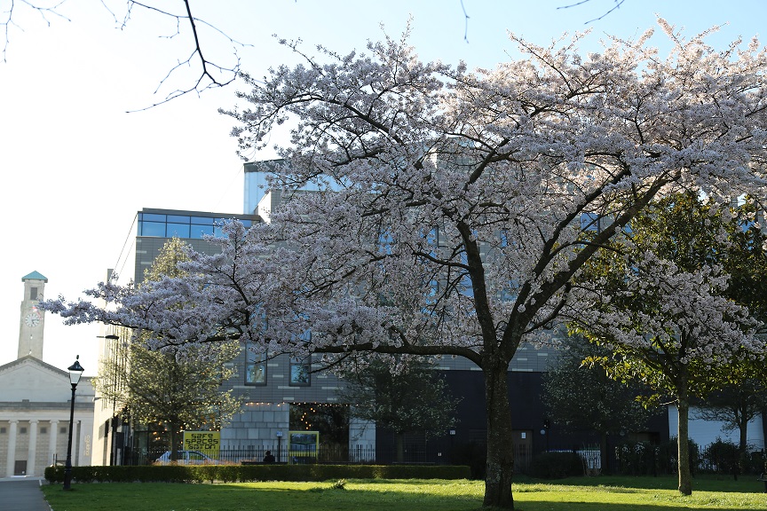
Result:
[[391,429],[397,460],[404,460],[404,436],[437,436],[455,427],[456,400],[447,382],[422,358],[374,358],[343,373],[340,397],[352,404],[352,416]]

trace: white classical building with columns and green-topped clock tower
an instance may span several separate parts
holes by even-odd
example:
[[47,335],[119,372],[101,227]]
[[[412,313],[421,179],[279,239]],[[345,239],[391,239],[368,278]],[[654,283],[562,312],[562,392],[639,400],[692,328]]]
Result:
[[[37,303],[48,279],[33,271],[21,281],[19,356],[0,366],[0,477],[43,476],[45,467],[67,457],[69,373],[42,360],[44,311]],[[83,377],[72,425],[75,466],[91,464],[93,397],[90,378]]]

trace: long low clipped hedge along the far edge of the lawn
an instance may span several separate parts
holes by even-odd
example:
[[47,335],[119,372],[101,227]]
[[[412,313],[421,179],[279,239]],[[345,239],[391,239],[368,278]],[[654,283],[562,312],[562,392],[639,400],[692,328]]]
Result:
[[[145,465],[73,467],[77,483],[221,483],[330,479],[469,479],[463,465]],[[49,483],[64,482],[63,467],[45,468]]]

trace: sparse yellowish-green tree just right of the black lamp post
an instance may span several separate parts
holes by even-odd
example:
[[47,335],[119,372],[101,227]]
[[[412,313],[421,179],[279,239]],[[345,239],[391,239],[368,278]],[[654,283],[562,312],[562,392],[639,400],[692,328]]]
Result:
[[[151,287],[165,277],[181,277],[179,265],[187,261],[186,245],[169,240],[144,273],[141,287]],[[121,403],[134,421],[157,424],[168,432],[172,459],[184,429],[219,429],[238,413],[241,401],[221,383],[233,376],[225,366],[239,352],[237,342],[147,348],[148,334],[123,329],[115,356],[99,367],[95,387],[102,397]]]

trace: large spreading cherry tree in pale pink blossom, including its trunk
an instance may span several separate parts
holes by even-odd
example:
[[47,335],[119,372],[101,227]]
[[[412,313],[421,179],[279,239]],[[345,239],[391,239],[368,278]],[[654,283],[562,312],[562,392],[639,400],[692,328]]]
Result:
[[182,349],[241,336],[328,366],[371,351],[466,358],[485,378],[484,504],[513,508],[519,344],[581,308],[573,279],[657,195],[763,189],[767,52],[660,26],[675,44],[666,59],[651,32],[589,55],[580,35],[548,47],[512,35],[525,56],[476,71],[420,61],[407,33],[317,57],[286,41],[304,64],[243,75],[245,106],[225,113],[243,156],[287,123],[272,186],[320,191],[285,193],[248,232],[229,224],[222,253],[191,255],[186,279],[146,293],[103,283],[90,294],[107,310],[46,307]]

